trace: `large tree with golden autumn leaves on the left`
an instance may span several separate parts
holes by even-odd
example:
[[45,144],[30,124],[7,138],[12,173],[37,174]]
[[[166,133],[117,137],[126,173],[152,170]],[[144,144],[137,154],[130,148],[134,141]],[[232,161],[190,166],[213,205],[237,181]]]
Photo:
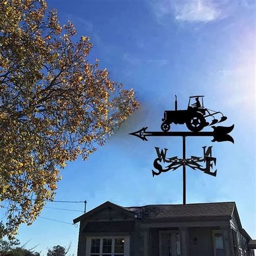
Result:
[[53,200],[59,169],[86,160],[138,103],[88,62],[89,37],[73,42],[73,24],[60,26],[45,0],[0,4],[0,197],[11,237]]

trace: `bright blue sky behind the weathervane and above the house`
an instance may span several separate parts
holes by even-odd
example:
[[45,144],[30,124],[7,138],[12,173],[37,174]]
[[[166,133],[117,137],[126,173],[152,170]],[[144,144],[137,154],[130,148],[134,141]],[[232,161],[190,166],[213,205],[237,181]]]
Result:
[[[242,226],[255,227],[255,4],[250,0],[48,1],[61,23],[70,19],[79,38],[91,38],[91,62],[100,60],[110,77],[132,87],[139,109],[89,160],[77,159],[62,171],[55,200],[87,200],[87,210],[107,200],[123,206],[181,204],[182,170],[152,177],[155,146],[181,157],[181,138],[150,138],[128,133],[143,126],[160,131],[164,110],[187,107],[188,97],[205,95],[209,109],[224,112],[223,125],[235,125],[230,142],[187,138],[187,156],[213,146],[217,177],[187,168],[187,203],[235,201]],[[76,38],[75,38],[76,39]],[[184,130],[172,126],[173,131]],[[83,204],[48,207],[83,211]],[[81,212],[82,213],[82,212]],[[41,217],[72,223],[79,212],[45,208]],[[46,254],[54,245],[77,251],[79,228],[38,218],[22,225],[18,238]]]

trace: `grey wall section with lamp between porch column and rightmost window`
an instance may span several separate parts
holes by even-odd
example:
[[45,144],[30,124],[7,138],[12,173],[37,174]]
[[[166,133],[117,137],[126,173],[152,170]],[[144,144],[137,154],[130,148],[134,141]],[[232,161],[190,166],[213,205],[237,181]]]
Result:
[[[214,256],[212,230],[210,227],[190,228],[190,255],[197,256]],[[194,244],[194,239],[197,239],[197,244]]]

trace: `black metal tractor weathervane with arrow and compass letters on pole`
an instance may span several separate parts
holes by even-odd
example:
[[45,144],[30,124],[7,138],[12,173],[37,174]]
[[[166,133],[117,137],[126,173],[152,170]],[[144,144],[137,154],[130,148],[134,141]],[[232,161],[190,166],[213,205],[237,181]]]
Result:
[[[212,157],[212,146],[203,147],[203,157],[191,156],[186,158],[186,137],[190,136],[211,136],[212,142],[232,142],[234,139],[228,134],[234,129],[234,125],[214,126],[214,124],[224,122],[227,117],[221,112],[213,111],[204,107],[204,96],[191,96],[188,101],[186,110],[178,110],[177,96],[175,96],[175,110],[166,110],[164,112],[163,123],[161,124],[161,132],[159,131],[146,131],[147,127],[143,127],[137,132],[130,133],[144,141],[147,141],[147,137],[156,136],[180,136],[183,137],[183,158],[178,157],[166,157],[168,149],[160,150],[159,147],[155,147],[157,152],[157,158],[153,162],[153,166],[158,172],[152,170],[153,177],[158,176],[162,172],[174,171],[183,166],[183,204],[186,204],[186,166],[191,167],[193,170],[200,170],[206,174],[216,177],[217,170],[212,171],[213,165],[216,164],[216,158]],[[192,99],[195,99],[195,103],[191,103]],[[220,115],[220,119],[216,119],[216,116]],[[211,123],[206,119],[212,118]],[[169,132],[171,124],[186,124],[188,130],[185,132]],[[204,127],[210,126],[213,131],[200,132]],[[204,164],[205,167],[202,165]],[[163,167],[163,165],[165,165]],[[167,165],[167,166],[166,166]]]

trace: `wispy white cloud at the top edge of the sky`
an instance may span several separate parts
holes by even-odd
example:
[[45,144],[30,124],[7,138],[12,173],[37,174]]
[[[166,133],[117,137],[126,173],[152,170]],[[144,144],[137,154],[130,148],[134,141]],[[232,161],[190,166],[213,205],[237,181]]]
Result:
[[237,3],[234,0],[149,0],[151,11],[159,23],[171,17],[178,22],[218,21],[229,16],[237,8]]

